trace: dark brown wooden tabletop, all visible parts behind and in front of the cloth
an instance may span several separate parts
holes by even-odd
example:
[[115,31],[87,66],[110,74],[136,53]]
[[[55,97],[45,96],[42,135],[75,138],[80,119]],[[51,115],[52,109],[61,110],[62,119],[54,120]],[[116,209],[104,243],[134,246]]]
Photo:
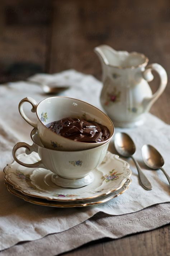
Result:
[[[101,78],[93,48],[137,51],[170,72],[169,0],[1,0],[0,83],[76,69]],[[169,79],[170,80],[170,79]],[[153,92],[159,79],[151,83]],[[151,113],[170,124],[170,86]],[[170,255],[170,225],[65,255]]]

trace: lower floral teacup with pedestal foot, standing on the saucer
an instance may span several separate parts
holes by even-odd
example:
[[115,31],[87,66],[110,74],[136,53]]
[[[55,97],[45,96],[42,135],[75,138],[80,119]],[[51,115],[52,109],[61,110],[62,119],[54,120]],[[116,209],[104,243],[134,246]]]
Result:
[[[82,187],[94,180],[93,171],[103,161],[109,142],[96,148],[81,151],[57,151],[45,148],[39,139],[37,129],[31,132],[32,145],[25,142],[16,143],[13,148],[13,158],[22,166],[28,168],[45,168],[53,172],[52,181],[61,187]],[[38,153],[40,161],[32,164],[23,163],[16,157],[16,151],[25,148],[27,155]]]

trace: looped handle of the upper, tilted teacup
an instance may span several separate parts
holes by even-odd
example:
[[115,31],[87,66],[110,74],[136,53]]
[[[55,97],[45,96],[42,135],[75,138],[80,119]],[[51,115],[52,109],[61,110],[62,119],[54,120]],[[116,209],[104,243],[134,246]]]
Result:
[[31,112],[35,113],[36,112],[36,109],[37,109],[37,102],[35,101],[35,99],[31,98],[31,97],[26,97],[24,99],[22,99],[20,102],[19,102],[19,105],[18,105],[18,108],[19,108],[19,113],[20,115],[25,119],[25,121],[32,125],[34,128],[37,128],[37,122],[33,122],[31,121],[24,113],[24,110],[23,110],[23,103],[24,102],[29,102],[31,105],[32,105],[32,110]]

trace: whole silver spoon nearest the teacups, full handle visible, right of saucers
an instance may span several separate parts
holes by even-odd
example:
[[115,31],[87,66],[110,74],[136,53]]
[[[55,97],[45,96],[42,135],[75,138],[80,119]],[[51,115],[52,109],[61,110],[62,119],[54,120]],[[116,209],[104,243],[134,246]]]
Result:
[[114,146],[119,155],[122,157],[131,157],[136,165],[138,175],[139,175],[139,180],[141,183],[141,186],[145,188],[146,190],[151,190],[152,185],[150,181],[147,179],[145,174],[142,172],[141,167],[139,166],[138,162],[132,157],[132,155],[135,153],[136,148],[134,145],[133,140],[131,137],[124,133],[124,132],[118,132],[115,135],[114,138]]

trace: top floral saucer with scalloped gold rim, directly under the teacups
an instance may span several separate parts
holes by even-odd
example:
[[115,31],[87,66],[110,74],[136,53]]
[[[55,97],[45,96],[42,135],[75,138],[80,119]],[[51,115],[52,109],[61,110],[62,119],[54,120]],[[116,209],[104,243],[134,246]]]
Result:
[[[20,154],[21,161],[35,162],[37,154]],[[62,188],[51,181],[53,173],[43,168],[23,167],[15,161],[4,168],[5,180],[22,194],[47,200],[88,200],[119,190],[131,176],[129,164],[118,155],[107,152],[103,162],[93,171],[94,181],[81,188]]]

